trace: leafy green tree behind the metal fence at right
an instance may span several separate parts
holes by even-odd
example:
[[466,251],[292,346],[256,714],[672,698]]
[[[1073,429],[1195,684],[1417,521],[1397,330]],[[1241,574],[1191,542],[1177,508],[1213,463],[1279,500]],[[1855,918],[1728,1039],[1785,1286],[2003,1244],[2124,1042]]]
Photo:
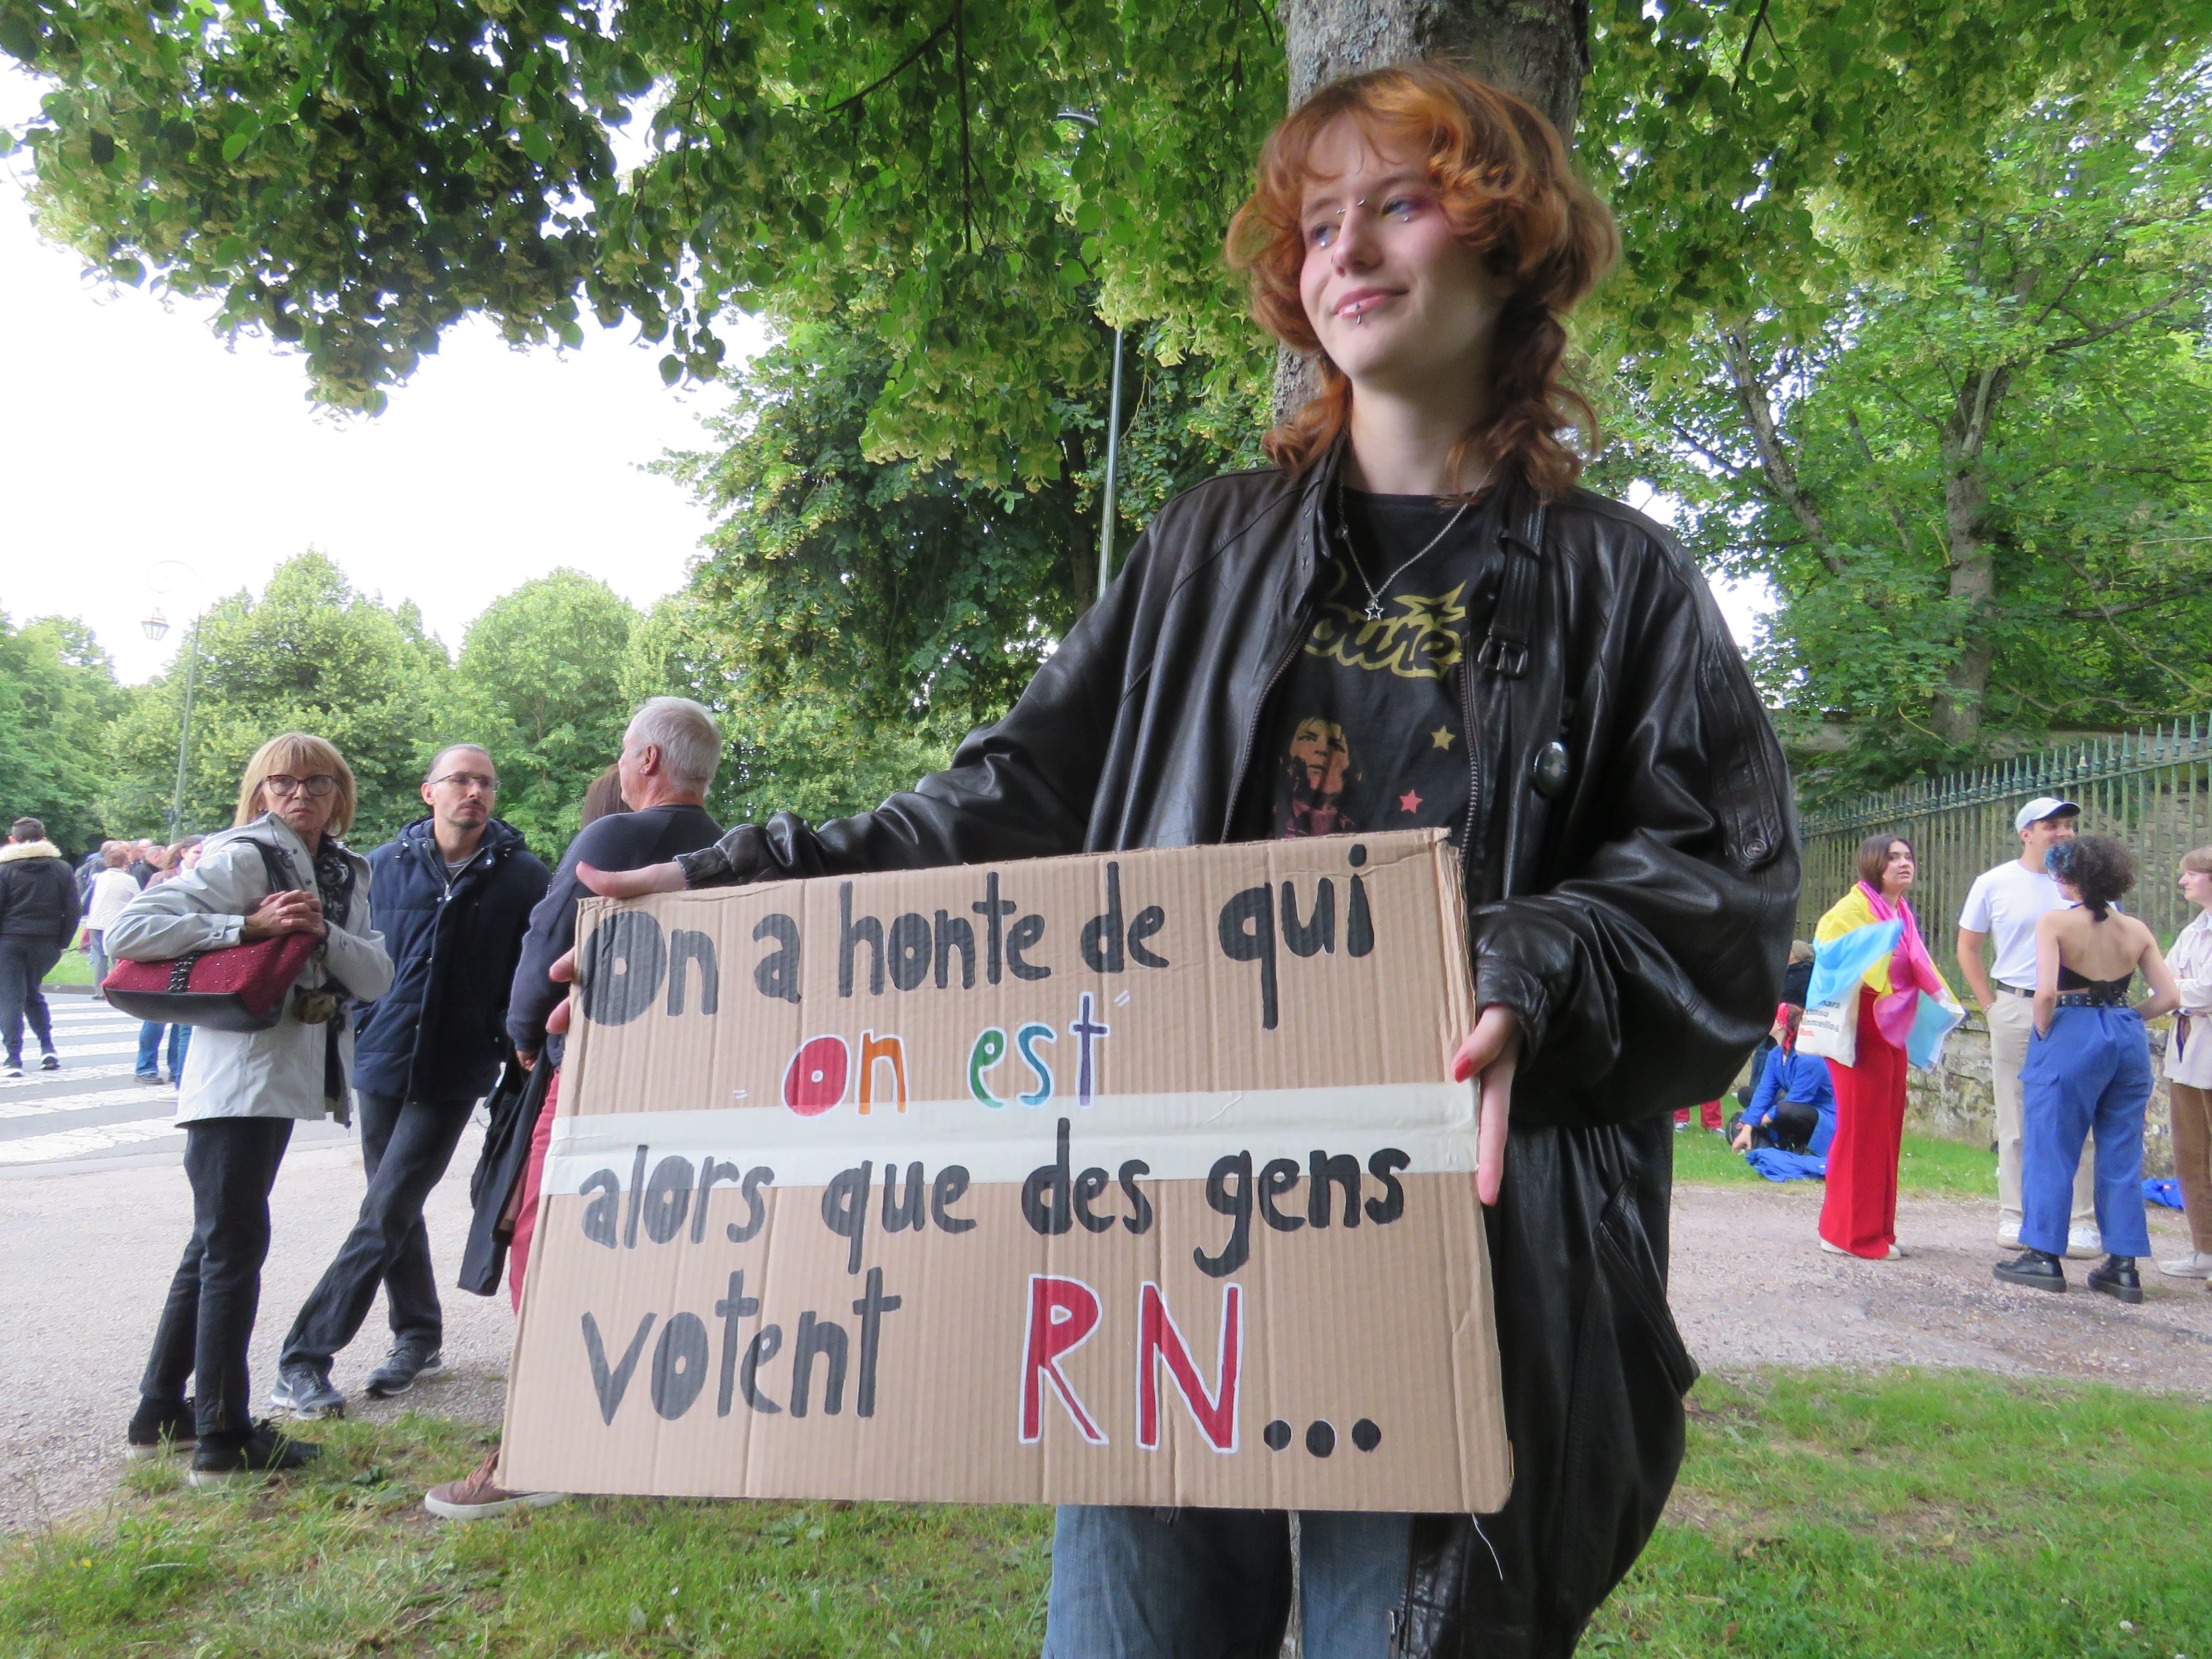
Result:
[[2208,117],[2194,66],[2039,100],[1816,334],[1783,294],[1632,363],[1701,560],[1783,599],[1770,697],[1851,734],[1820,787],[2212,697]]

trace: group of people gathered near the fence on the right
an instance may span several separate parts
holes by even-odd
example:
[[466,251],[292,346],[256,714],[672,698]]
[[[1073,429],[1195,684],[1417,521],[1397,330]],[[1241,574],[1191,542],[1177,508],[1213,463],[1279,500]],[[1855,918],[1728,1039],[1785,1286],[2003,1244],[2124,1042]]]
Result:
[[[2199,916],[2161,953],[2126,916],[2132,854],[2079,834],[2081,807],[2039,796],[2015,814],[2022,852],[1982,872],[1958,922],[1958,962],[1989,1026],[1995,1099],[1995,1265],[2011,1285],[2066,1290],[2064,1261],[2099,1261],[2090,1290],[2139,1303],[2143,1133],[2152,1095],[2146,1020],[2166,1044],[2172,1155],[2190,1250],[2159,1261],[2212,1287],[2212,847],[2181,858]],[[1898,1161],[1907,1073],[1933,1066],[1964,1009],[1936,969],[1907,898],[1905,836],[1858,849],[1858,883],[1792,947],[1774,1029],[1725,1133],[1772,1179],[1823,1177],[1820,1250],[1898,1261]],[[2130,1002],[2141,975],[2143,1000]],[[1683,1119],[1688,1113],[1681,1115]]]

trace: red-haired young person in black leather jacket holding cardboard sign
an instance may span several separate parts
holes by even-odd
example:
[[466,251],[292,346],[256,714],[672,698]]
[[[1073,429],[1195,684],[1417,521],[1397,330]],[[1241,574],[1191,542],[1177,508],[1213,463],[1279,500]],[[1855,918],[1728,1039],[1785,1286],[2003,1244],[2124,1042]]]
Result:
[[[1668,1115],[1772,1018],[1787,776],[1697,568],[1575,489],[1564,319],[1615,234],[1533,108],[1440,64],[1325,86],[1267,139],[1230,257],[1318,374],[1274,467],[1164,507],[945,772],[595,885],[1447,827],[1513,1498],[1305,1513],[1305,1650],[1566,1655],[1681,1460]],[[1290,1584],[1279,1511],[1066,1506],[1044,1650],[1272,1657]]]

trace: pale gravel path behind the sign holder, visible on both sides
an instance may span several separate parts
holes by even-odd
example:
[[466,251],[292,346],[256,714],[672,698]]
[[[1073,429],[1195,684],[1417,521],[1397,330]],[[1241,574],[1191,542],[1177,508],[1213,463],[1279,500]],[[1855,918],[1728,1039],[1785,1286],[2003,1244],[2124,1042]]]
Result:
[[[429,1203],[440,1279],[460,1259],[476,1141],[476,1130],[462,1139],[456,1172]],[[285,1159],[254,1338],[259,1387],[358,1199],[354,1146]],[[1818,1206],[1814,1183],[1677,1190],[1674,1314],[1703,1367],[1971,1365],[2212,1398],[2212,1294],[2201,1287],[2146,1274],[2141,1307],[2079,1283],[2066,1296],[2011,1290],[1989,1276],[2000,1254],[1993,1217],[1940,1199],[1902,1206],[1905,1261],[1845,1261],[1814,1243]],[[175,1152],[0,1175],[0,1531],[93,1509],[115,1489],[122,1427],[188,1225]],[[2177,1254],[2181,1241],[2179,1217],[2154,1214],[2154,1248]],[[2081,1267],[2070,1272],[2079,1281]],[[507,1301],[449,1290],[445,1310],[445,1378],[389,1402],[358,1396],[385,1349],[380,1307],[369,1316],[334,1374],[349,1411],[374,1420],[420,1407],[498,1422]]]

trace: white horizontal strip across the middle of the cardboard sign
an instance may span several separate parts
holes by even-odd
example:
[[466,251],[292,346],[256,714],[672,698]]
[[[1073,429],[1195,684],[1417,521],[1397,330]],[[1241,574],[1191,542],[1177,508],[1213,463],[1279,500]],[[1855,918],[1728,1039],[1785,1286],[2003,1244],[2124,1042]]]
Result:
[[1053,1130],[1071,1119],[1084,1164],[1144,1159],[1150,1179],[1203,1181],[1214,1159],[1303,1157],[1316,1135],[1356,1130],[1374,1146],[1396,1146],[1411,1170],[1440,1175],[1475,1168],[1475,1091],[1471,1084],[1365,1084],[1358,1088],[1250,1088],[1194,1095],[1102,1095],[1088,1110],[987,1110],[973,1099],[889,1102],[867,1117],[836,1108],[834,1121],[783,1106],[730,1106],[681,1113],[593,1113],[557,1117],[546,1155],[546,1192],[582,1192],[606,1168],[628,1168],[639,1146],[653,1157],[717,1157],[741,1168],[770,1166],[776,1186],[827,1186],[860,1159],[962,1164],[971,1181],[1024,1181],[1053,1161]]

